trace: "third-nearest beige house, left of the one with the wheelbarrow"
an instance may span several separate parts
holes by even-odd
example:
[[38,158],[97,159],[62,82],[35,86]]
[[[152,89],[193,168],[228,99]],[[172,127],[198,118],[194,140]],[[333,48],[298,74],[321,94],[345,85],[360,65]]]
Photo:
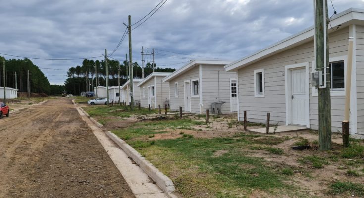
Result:
[[169,103],[169,83],[163,83],[163,78],[170,74],[169,72],[153,72],[138,84],[142,107],[151,105],[157,108],[160,105],[164,108],[165,104]]

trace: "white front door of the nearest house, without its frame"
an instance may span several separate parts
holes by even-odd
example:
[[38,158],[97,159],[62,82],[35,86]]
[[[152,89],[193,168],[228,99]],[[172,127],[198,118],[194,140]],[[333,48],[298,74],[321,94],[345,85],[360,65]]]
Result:
[[291,116],[292,124],[306,125],[307,94],[305,68],[291,70]]

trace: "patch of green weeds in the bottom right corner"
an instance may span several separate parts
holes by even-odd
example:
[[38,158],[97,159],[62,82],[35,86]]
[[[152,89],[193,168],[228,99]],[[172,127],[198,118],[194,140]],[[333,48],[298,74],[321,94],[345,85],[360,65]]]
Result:
[[363,196],[364,195],[364,185],[357,184],[353,182],[334,182],[330,185],[330,193],[332,194],[350,194],[350,195],[357,195]]

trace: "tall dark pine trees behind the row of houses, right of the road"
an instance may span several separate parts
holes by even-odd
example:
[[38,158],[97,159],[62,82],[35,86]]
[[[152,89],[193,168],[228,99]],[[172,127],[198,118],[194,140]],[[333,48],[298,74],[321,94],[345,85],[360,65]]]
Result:
[[[107,60],[108,76],[106,75],[105,61],[84,59],[81,66],[71,67],[67,71],[68,78],[64,82],[68,94],[79,95],[81,92],[93,91],[96,87],[96,71],[98,74],[98,85],[106,86],[106,79],[109,79],[109,86],[118,86],[118,69],[120,68],[120,85],[128,80],[129,63],[123,61],[121,64],[117,60]],[[147,63],[144,68],[145,77],[153,72],[173,72],[172,68],[159,68],[151,63]],[[142,68],[138,62],[133,63],[134,78],[142,78]]]

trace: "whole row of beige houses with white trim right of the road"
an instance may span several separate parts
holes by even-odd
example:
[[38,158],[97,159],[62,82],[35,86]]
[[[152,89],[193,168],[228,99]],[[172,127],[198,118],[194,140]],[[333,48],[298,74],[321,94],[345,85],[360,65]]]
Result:
[[[353,39],[350,131],[364,134],[364,10],[348,9],[331,19],[329,68],[332,131],[341,131],[344,119],[348,41]],[[237,61],[194,60],[173,73],[152,73],[134,79],[134,99],[143,107],[169,103],[184,112],[236,112],[238,120],[303,125],[318,129],[317,89],[310,82],[315,69],[314,27]],[[122,101],[130,101],[128,83]],[[114,89],[113,87],[110,89]],[[118,92],[113,99],[118,100]],[[126,96],[128,95],[128,96]],[[219,108],[219,109],[214,109]]]

